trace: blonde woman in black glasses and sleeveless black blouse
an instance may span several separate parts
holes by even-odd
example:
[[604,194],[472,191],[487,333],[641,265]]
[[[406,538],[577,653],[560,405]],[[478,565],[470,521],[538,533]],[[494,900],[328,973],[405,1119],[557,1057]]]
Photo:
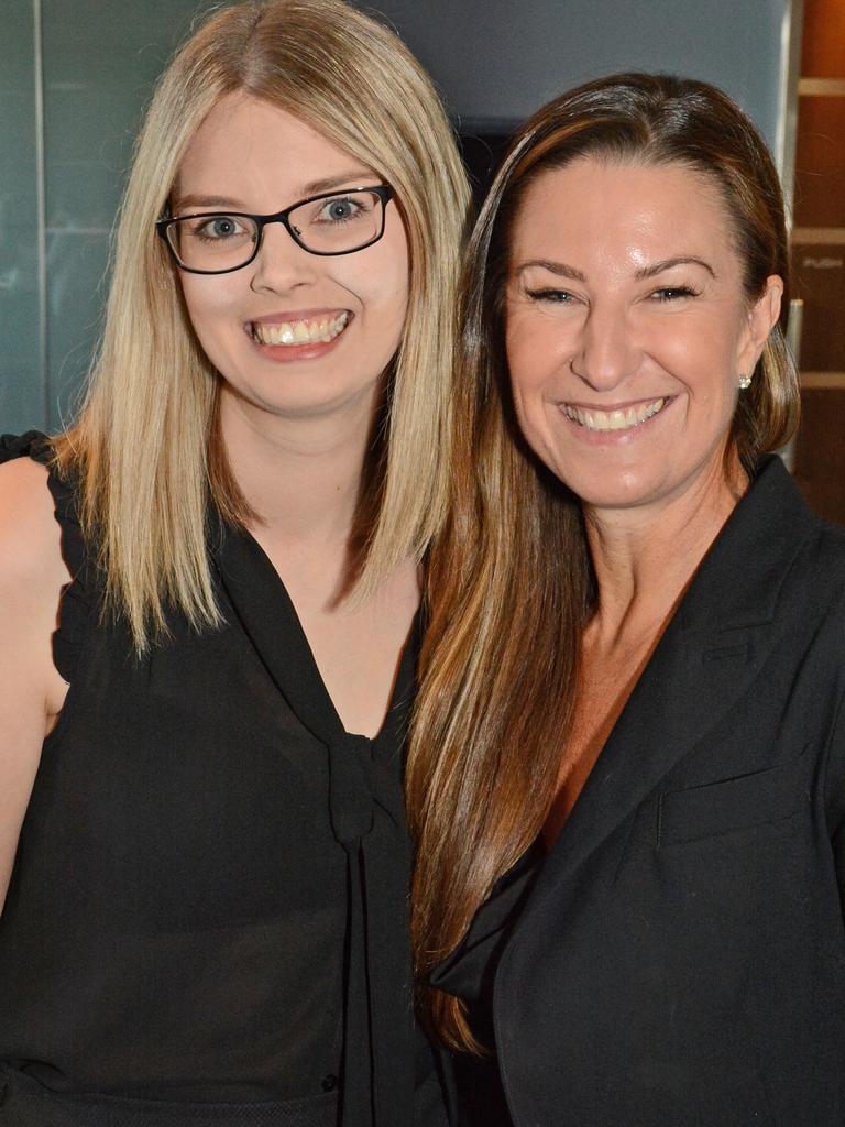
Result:
[[465,202],[340,0],[219,12],[155,92],[79,420],[1,447],[16,1127],[439,1121],[401,742]]

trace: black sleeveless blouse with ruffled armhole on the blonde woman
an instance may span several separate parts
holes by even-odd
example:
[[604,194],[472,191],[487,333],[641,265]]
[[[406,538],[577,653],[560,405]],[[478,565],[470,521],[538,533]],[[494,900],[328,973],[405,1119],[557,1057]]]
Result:
[[[0,461],[21,455],[50,450],[0,440]],[[220,527],[225,623],[172,614],[139,659],[100,618],[71,488],[55,472],[50,488],[73,576],[53,647],[70,689],[0,917],[0,1062],[29,1108],[9,1122],[41,1124],[33,1108],[51,1127],[413,1122],[416,629],[382,731],[348,735],[275,569]]]

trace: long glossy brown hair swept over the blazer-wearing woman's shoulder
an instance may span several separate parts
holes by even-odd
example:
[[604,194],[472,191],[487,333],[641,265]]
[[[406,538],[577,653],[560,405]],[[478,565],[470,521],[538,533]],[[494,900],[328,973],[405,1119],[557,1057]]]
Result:
[[[783,199],[742,110],[703,82],[616,74],[551,101],[516,136],[465,268],[454,385],[452,515],[429,571],[430,628],[408,763],[417,841],[412,929],[422,976],[465,935],[496,880],[540,833],[572,717],[594,578],[580,506],[514,421],[504,349],[508,242],[526,188],[578,157],[682,163],[721,190],[749,303],[789,281]],[[789,303],[740,397],[732,437],[747,468],[798,421],[784,344]],[[424,1005],[453,1047],[478,1048],[461,1003]]]

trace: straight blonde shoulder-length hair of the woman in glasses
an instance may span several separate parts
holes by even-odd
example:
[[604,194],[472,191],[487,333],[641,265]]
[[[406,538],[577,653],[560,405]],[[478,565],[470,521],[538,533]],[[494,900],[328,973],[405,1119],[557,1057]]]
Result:
[[[225,95],[278,106],[368,165],[395,190],[410,250],[409,302],[386,375],[377,465],[357,591],[419,560],[446,509],[455,279],[469,192],[430,80],[388,28],[343,0],[269,0],[213,15],[178,52],[152,98],[121,208],[99,354],[75,425],[55,442],[80,482],[99,545],[106,605],[140,651],[168,606],[219,622],[206,513],[250,512],[216,426],[220,376],[194,337],[154,222],[186,148]],[[282,206],[285,201],[279,201]]]

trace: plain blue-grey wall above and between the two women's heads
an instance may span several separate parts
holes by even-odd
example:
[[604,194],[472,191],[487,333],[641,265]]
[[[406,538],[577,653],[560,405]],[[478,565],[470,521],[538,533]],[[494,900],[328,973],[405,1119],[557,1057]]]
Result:
[[[362,5],[362,7],[371,7]],[[598,74],[661,70],[715,82],[776,143],[790,0],[375,0],[473,126],[522,121]]]

